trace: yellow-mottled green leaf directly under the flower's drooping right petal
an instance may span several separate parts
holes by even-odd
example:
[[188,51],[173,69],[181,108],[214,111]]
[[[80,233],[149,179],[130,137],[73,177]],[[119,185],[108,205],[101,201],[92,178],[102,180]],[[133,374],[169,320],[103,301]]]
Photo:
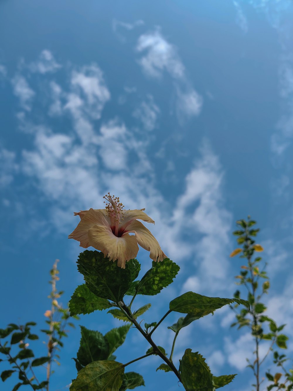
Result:
[[153,296],[164,287],[167,287],[173,282],[180,267],[169,258],[165,258],[163,262],[152,262],[152,268],[143,276],[137,286],[138,294],[146,294]]

